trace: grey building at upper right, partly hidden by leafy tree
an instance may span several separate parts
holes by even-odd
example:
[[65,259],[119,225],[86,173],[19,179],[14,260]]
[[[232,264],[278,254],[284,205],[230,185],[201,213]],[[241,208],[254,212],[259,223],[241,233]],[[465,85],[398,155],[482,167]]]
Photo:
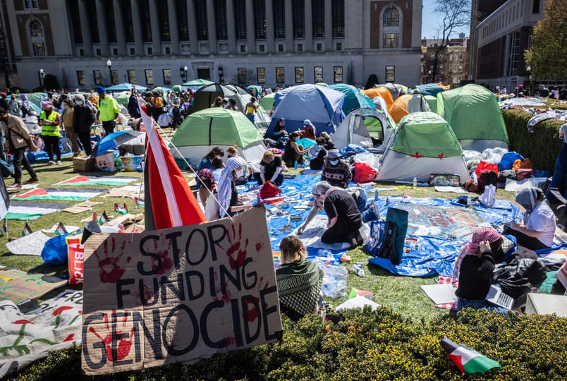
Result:
[[530,49],[533,25],[545,0],[508,0],[475,26],[470,79],[494,90],[513,90],[529,80],[523,52]]

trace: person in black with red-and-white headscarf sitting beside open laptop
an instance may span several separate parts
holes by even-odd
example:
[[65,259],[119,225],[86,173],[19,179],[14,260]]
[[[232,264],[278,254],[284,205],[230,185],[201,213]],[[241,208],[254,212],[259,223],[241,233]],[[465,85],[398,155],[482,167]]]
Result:
[[501,250],[502,241],[498,231],[484,228],[475,231],[461,250],[453,269],[453,279],[458,279],[457,310],[469,307],[506,311],[485,300],[492,284],[494,253]]

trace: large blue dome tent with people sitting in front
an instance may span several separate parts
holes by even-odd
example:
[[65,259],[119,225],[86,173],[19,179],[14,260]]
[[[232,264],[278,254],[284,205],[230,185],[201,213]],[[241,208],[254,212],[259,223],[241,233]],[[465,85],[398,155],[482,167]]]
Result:
[[334,133],[335,126],[343,120],[345,95],[329,87],[299,85],[276,92],[274,114],[266,135],[272,135],[279,118],[286,119],[286,131],[303,129],[303,121],[310,121],[317,128],[317,135],[323,131]]

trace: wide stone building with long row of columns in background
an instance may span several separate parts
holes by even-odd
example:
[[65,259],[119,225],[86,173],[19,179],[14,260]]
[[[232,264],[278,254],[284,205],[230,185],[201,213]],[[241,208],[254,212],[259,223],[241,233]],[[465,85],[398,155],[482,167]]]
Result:
[[[422,0],[2,0],[21,86],[419,82]],[[107,67],[106,62],[111,65]],[[185,67],[187,71],[185,72]]]

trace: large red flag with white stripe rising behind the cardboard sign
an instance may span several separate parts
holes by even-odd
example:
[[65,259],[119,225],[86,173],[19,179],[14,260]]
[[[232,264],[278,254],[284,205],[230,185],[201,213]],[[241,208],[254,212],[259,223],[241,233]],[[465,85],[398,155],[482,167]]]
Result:
[[185,177],[147,114],[146,106],[142,107],[142,120],[147,133],[145,182],[150,190],[155,229],[207,222]]

